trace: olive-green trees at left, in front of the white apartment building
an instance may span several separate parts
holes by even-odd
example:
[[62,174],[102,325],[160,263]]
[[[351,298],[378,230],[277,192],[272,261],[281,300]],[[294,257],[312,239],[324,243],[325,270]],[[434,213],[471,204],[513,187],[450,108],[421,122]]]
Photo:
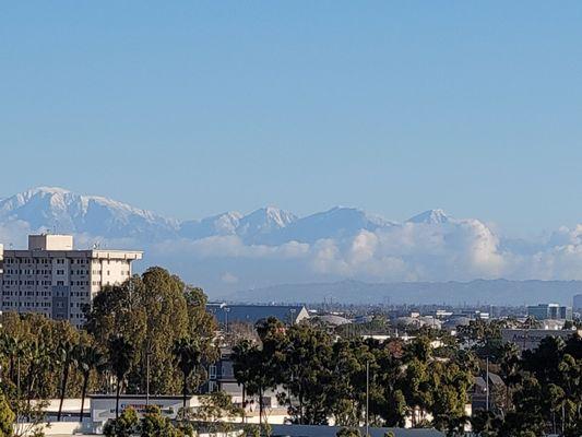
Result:
[[4,312],[4,402],[22,421],[35,414],[34,400],[60,398],[60,420],[64,398],[84,403],[88,392],[181,392],[186,404],[205,380],[204,364],[217,357],[217,326],[205,305],[201,288],[151,268],[97,294],[80,330],[38,314]]

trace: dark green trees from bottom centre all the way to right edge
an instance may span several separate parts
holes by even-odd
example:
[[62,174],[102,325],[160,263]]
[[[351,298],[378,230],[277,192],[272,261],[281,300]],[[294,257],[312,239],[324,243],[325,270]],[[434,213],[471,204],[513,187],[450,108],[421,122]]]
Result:
[[[531,321],[525,321],[530,323]],[[546,338],[523,354],[501,341],[515,320],[473,321],[458,336],[420,329],[408,343],[337,336],[308,323],[284,329],[275,319],[257,326],[259,341],[234,347],[234,368],[244,393],[259,399],[278,392],[296,424],[435,427],[462,435],[465,425],[484,437],[582,435],[582,339]],[[474,376],[487,364],[506,381],[491,385],[491,409],[465,405]],[[368,411],[366,393],[368,389]]]

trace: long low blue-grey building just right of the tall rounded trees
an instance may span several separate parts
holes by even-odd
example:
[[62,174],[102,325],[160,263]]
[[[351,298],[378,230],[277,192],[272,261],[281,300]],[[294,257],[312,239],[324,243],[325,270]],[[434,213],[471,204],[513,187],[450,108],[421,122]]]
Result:
[[300,305],[228,305],[207,304],[206,311],[216,317],[218,323],[244,322],[254,324],[259,320],[275,317],[284,323],[293,324],[308,317]]

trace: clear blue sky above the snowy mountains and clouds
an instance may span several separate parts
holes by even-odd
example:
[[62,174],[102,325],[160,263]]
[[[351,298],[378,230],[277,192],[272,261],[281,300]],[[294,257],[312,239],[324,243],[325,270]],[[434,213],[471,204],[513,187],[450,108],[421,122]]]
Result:
[[580,23],[579,1],[3,2],[0,197],[571,225]]

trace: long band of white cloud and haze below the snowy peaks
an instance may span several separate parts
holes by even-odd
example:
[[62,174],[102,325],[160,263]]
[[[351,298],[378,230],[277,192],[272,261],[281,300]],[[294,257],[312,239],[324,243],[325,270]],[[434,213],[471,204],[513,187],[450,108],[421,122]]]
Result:
[[[4,249],[26,246],[31,229],[23,221],[0,224]],[[216,286],[247,287],[277,281],[322,281],[354,277],[366,281],[450,281],[483,279],[582,279],[582,225],[561,227],[544,241],[508,244],[478,220],[443,224],[404,223],[325,238],[312,244],[248,245],[235,235],[162,243],[134,238],[75,236],[75,246],[144,249],[142,265],[168,265],[188,280],[201,272]],[[192,272],[195,272],[192,273]],[[210,281],[210,280],[209,280]]]

